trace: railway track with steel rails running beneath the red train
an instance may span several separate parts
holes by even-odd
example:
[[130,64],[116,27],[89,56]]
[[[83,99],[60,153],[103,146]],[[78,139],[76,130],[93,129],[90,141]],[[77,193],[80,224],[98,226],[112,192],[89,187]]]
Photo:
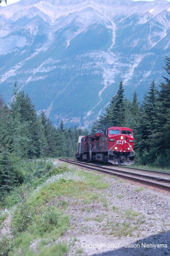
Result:
[[[122,166],[118,167],[118,168],[117,167],[109,168],[106,166],[99,166],[99,165],[90,164],[87,162],[85,163],[82,161],[78,161],[76,159],[75,160],[74,159],[59,159],[59,160],[64,161],[69,164],[80,166],[82,168],[87,168],[92,171],[98,171],[100,173],[115,175],[119,178],[132,180],[132,181],[135,181],[138,183],[149,185],[151,187],[161,188],[163,190],[170,192],[170,174],[168,174],[168,173],[148,171],[149,172],[149,175],[148,175],[146,173],[146,170],[144,170],[144,172],[142,172],[143,170],[141,170],[141,169],[138,170],[135,168],[127,168],[127,170],[129,170],[129,171],[125,171],[124,169],[121,170]],[[131,172],[130,172],[130,170],[131,170]],[[139,173],[139,171],[141,173]]]

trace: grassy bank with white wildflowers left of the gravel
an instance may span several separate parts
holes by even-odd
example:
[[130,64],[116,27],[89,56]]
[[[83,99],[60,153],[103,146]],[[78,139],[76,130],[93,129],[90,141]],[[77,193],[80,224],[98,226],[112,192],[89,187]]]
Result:
[[[59,176],[60,179],[56,180]],[[69,216],[64,213],[68,200],[81,198],[85,204],[96,200],[105,204],[105,198],[102,195],[99,197],[99,194],[94,192],[95,188],[100,190],[108,187],[109,184],[100,181],[102,177],[103,175],[100,174],[94,175],[83,171],[75,173],[74,170],[73,173],[64,165],[50,170],[43,178],[32,180],[26,199],[21,199],[14,206],[12,213],[14,237],[12,239],[4,237],[0,248],[1,255],[66,254],[68,245],[57,242],[57,239],[69,228]],[[45,180],[48,180],[47,184]],[[15,196],[16,193],[12,194],[8,202],[14,201]],[[62,199],[63,197],[67,200]],[[8,251],[9,253],[6,254]]]

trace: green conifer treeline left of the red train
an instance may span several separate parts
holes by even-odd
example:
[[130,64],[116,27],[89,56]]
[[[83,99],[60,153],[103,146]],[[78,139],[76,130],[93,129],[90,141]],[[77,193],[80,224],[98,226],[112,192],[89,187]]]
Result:
[[23,171],[28,159],[73,157],[78,136],[87,132],[65,129],[63,121],[54,127],[44,112],[37,115],[30,97],[17,92],[15,83],[11,106],[0,98],[0,197],[28,179],[29,171],[26,175]]

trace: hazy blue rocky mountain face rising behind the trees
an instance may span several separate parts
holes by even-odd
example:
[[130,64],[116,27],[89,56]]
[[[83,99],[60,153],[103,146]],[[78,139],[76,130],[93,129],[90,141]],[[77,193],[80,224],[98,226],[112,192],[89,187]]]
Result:
[[122,80],[142,100],[163,81],[170,55],[170,2],[21,0],[0,7],[0,93],[12,85],[53,123],[88,127]]

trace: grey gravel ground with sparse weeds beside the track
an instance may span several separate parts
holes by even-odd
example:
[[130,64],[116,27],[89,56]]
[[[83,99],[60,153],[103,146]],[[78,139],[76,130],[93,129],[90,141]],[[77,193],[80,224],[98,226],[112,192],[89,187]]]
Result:
[[68,243],[69,256],[170,255],[170,194],[110,176],[102,181],[109,187],[93,190],[107,204],[60,198],[68,201],[70,229],[56,242]]

